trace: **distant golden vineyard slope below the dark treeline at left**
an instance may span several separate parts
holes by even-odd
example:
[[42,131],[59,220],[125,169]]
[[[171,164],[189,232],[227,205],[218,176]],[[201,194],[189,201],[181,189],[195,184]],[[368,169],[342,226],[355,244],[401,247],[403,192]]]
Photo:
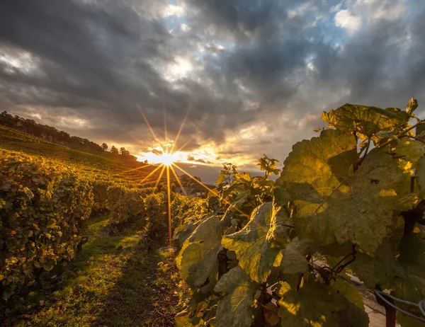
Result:
[[[1,125],[0,140],[0,154],[17,151],[32,156],[40,156],[75,168],[80,173],[97,173],[103,178],[113,178],[128,183],[140,183],[156,168],[138,161],[126,160],[123,156],[110,153],[91,154],[70,149],[64,145],[47,142],[45,139],[33,137],[30,134]],[[145,180],[144,184],[156,181],[159,173],[160,170],[153,173]]]

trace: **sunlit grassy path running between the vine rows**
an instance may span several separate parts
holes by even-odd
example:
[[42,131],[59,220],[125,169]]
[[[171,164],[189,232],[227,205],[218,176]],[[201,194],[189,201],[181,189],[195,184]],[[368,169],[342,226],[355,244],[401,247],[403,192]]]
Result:
[[89,241],[63,271],[62,283],[31,291],[21,304],[26,312],[9,325],[174,326],[174,255],[147,251],[142,221],[116,236],[108,235],[107,224],[108,217],[91,220]]

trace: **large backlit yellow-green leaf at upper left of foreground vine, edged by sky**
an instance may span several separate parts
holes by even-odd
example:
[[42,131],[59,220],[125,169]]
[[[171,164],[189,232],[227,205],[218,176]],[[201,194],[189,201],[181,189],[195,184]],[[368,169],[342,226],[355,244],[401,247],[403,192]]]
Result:
[[[314,215],[326,210],[324,203],[335,190],[348,188],[344,181],[353,173],[357,160],[356,139],[339,130],[324,130],[320,137],[298,142],[293,146],[276,180],[275,198],[286,201],[286,192],[293,200],[293,223],[301,239],[322,238],[323,243],[333,243],[334,236],[327,233],[326,221]],[[286,190],[286,192],[279,190]],[[278,196],[283,193],[283,196]]]

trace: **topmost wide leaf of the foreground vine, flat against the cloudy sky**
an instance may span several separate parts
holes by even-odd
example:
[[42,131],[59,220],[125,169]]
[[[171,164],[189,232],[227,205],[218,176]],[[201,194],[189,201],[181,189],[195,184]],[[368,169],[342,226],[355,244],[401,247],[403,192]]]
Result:
[[328,127],[346,132],[357,132],[362,139],[372,137],[382,130],[394,130],[409,120],[409,114],[398,108],[381,109],[346,103],[329,113],[322,113],[322,120]]

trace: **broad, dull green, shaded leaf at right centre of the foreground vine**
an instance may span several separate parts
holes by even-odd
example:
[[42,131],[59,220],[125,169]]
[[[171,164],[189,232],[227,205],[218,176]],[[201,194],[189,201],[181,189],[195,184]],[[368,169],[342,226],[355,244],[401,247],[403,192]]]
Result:
[[[391,176],[391,178],[388,178]],[[352,241],[374,253],[382,239],[397,226],[397,217],[417,202],[410,194],[410,173],[395,159],[373,149],[362,166],[348,178],[348,189],[330,197],[327,216],[338,243]]]

